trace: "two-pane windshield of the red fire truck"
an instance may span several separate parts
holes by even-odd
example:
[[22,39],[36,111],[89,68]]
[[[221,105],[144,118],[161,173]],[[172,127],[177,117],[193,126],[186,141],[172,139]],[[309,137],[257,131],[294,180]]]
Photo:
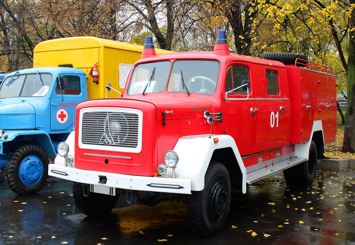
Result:
[[[211,95],[216,91],[220,64],[212,60],[177,60],[149,62],[137,65],[132,73],[128,95],[171,93]],[[168,80],[168,84],[166,85]]]

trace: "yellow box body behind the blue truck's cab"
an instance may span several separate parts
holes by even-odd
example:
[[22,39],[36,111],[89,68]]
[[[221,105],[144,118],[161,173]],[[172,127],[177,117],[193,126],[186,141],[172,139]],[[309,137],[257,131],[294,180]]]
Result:
[[[96,37],[71,37],[43,41],[33,51],[33,67],[73,67],[87,74],[88,99],[105,98],[106,85],[123,92],[127,75],[141,58],[143,44],[125,43]],[[155,49],[157,54],[171,51]],[[89,75],[97,63],[98,84]],[[111,90],[108,98],[119,94]]]

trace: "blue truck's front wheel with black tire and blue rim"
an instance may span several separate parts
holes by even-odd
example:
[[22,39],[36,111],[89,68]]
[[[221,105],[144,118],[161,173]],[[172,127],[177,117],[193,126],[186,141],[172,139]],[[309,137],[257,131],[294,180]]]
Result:
[[48,164],[47,153],[41,147],[21,146],[5,164],[7,186],[19,195],[37,193],[48,179]]

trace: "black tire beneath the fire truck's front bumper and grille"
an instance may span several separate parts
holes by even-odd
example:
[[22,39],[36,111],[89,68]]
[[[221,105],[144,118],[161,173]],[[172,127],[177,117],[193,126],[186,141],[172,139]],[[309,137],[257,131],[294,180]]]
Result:
[[98,216],[108,214],[116,206],[119,194],[115,196],[105,195],[87,191],[87,196],[83,195],[83,185],[73,182],[73,196],[76,207],[87,216]]

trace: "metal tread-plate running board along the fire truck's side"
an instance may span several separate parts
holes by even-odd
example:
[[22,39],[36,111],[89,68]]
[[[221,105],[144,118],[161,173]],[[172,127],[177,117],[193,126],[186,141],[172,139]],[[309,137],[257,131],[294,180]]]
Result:
[[258,169],[256,171],[246,174],[246,183],[251,184],[263,178],[272,176],[275,173],[284,171],[287,168],[293,167],[299,163],[307,161],[304,157],[293,157],[282,162],[275,163],[274,165]]

